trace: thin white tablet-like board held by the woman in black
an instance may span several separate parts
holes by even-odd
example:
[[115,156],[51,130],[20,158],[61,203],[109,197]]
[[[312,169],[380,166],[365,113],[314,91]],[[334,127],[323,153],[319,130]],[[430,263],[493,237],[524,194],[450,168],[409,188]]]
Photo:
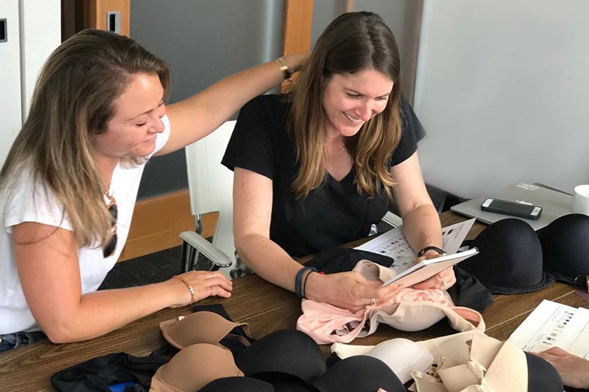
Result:
[[400,274],[393,276],[382,285],[386,286],[391,283],[402,283],[405,287],[413,286],[414,284],[431,278],[431,276],[438,274],[438,272],[442,272],[444,269],[452,267],[477,253],[478,248],[472,248],[468,249],[468,251],[454,253],[453,255],[445,255],[439,258],[424,260],[413,267],[405,269],[405,271]]

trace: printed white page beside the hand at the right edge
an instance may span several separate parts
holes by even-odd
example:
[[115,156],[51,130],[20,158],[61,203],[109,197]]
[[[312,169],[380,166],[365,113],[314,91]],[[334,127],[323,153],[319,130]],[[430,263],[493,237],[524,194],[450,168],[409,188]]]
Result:
[[539,352],[552,346],[569,350],[581,332],[572,322],[577,311],[574,307],[543,300],[508,340],[524,351]]

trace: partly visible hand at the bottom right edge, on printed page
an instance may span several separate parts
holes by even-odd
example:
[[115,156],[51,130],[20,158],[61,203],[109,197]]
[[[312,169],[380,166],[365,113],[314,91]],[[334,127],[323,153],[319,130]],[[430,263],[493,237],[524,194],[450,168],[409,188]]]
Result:
[[564,385],[589,388],[589,360],[567,353],[560,347],[552,347],[536,355],[555,367]]

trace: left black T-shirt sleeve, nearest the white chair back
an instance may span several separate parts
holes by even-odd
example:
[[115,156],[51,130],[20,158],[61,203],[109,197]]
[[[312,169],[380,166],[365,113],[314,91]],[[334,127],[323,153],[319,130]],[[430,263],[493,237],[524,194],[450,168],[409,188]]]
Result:
[[285,129],[284,100],[277,95],[262,95],[243,106],[222,165],[231,170],[241,167],[274,179],[277,136]]

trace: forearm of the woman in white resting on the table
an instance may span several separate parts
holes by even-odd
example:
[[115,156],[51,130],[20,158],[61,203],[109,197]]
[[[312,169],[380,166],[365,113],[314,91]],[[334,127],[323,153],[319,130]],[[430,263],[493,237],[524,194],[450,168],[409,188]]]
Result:
[[55,315],[41,328],[54,343],[91,339],[172,306],[178,295],[190,297],[184,284],[175,280],[86,293],[67,315]]

